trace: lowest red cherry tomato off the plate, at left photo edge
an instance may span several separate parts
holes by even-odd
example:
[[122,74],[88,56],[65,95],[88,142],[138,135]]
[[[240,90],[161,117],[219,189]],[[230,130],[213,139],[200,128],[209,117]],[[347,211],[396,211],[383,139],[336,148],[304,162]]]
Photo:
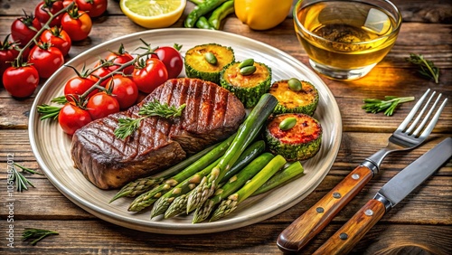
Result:
[[16,98],[30,97],[39,84],[38,71],[33,65],[8,67],[3,74],[3,85]]

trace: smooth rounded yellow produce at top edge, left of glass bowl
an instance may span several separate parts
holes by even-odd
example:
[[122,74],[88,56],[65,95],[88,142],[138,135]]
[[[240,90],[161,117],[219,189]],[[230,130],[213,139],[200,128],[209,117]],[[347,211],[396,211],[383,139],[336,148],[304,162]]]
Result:
[[286,19],[292,0],[235,0],[235,14],[254,30],[267,30]]

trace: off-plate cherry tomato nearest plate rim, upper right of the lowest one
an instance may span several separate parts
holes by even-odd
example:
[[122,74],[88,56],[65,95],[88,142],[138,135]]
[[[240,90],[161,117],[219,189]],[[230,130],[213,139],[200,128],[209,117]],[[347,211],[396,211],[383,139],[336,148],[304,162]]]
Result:
[[64,63],[64,57],[57,47],[51,46],[49,43],[39,42],[34,45],[28,62],[33,64],[41,78],[49,78]]

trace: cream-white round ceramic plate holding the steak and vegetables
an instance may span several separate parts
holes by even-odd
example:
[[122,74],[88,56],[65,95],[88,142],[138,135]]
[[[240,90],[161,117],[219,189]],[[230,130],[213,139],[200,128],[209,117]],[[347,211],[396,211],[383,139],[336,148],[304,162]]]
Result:
[[[153,47],[183,44],[182,54],[191,47],[216,42],[231,46],[236,60],[254,58],[266,63],[273,71],[273,81],[297,77],[309,80],[319,91],[320,100],[315,118],[324,128],[323,143],[320,152],[303,162],[306,175],[278,190],[252,197],[240,204],[240,207],[217,222],[193,224],[191,215],[163,220],[149,219],[149,210],[144,213],[127,212],[130,199],[119,199],[108,203],[117,191],[103,191],[90,184],[80,171],[75,169],[71,160],[71,137],[65,135],[57,121],[41,121],[36,107],[49,104],[51,99],[63,95],[63,84],[74,75],[69,68],[61,68],[42,87],[33,103],[30,114],[29,134],[33,153],[42,171],[61,194],[68,197],[84,210],[107,222],[112,222],[130,229],[156,233],[191,234],[227,231],[266,220],[282,213],[302,201],[322,182],[334,163],[342,137],[342,120],[336,101],[325,83],[303,63],[285,52],[268,44],[257,42],[232,33],[201,29],[162,29],[143,33],[133,33],[118,39],[104,42],[68,62],[68,65],[80,69],[83,64],[92,67],[100,57],[105,57],[108,50],[118,49],[123,43],[128,52],[133,52],[142,42],[150,42]],[[183,72],[184,74],[184,72]]]

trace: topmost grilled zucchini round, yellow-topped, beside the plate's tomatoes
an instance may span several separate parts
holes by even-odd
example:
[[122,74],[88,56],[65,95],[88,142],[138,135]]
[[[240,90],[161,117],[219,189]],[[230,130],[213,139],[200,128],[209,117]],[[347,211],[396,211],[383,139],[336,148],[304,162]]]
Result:
[[197,45],[185,53],[185,74],[188,78],[199,78],[220,84],[221,70],[234,60],[231,47],[216,43]]

